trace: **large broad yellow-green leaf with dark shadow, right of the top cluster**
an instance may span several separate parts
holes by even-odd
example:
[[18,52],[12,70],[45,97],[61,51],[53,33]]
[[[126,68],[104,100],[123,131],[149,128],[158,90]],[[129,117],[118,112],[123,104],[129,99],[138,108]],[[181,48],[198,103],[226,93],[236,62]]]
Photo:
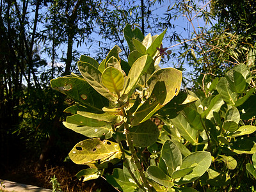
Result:
[[[178,95],[182,80],[182,72],[175,68],[162,68],[154,72],[147,81],[148,97],[152,94],[155,86],[159,87],[158,100],[163,100],[160,104],[165,105]],[[163,82],[163,83],[161,83]],[[155,94],[156,95],[156,94]],[[160,99],[161,97],[161,99]]]

